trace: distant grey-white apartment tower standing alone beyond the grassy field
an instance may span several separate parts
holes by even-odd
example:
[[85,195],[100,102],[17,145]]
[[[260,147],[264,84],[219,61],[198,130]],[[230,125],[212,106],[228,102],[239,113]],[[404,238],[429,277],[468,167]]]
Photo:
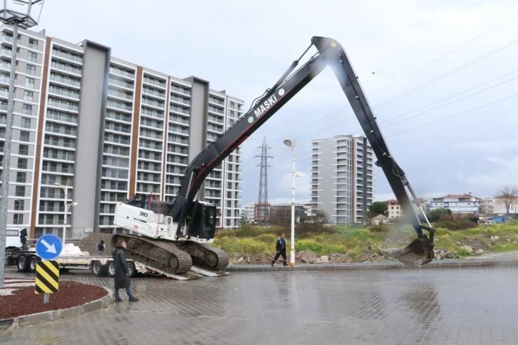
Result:
[[312,140],[311,206],[335,224],[365,222],[375,193],[374,153],[363,135]]

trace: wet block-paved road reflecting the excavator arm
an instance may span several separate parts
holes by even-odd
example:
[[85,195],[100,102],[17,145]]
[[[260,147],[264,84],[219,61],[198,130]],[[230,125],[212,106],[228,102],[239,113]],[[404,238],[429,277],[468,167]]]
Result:
[[138,303],[3,331],[0,344],[518,344],[517,283],[518,267],[135,278]]

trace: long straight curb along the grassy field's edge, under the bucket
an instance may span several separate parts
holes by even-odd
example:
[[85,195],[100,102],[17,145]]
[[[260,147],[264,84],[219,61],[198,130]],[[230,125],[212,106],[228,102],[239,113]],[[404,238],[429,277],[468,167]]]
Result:
[[428,269],[440,267],[497,267],[518,266],[518,259],[443,259],[432,261],[421,267],[410,267],[400,262],[360,262],[355,264],[300,264],[295,267],[271,267],[269,265],[243,264],[225,267],[225,272],[289,272],[289,271],[352,271],[360,269]]

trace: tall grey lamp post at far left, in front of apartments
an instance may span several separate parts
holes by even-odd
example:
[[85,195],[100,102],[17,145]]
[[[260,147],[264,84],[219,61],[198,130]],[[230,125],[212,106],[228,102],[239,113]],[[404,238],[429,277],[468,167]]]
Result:
[[[29,29],[38,25],[31,17],[31,9],[35,4],[43,4],[44,0],[4,0],[0,8],[0,22],[13,26],[13,47],[11,51],[11,69],[9,74],[9,96],[7,98],[6,131],[4,135],[4,163],[2,164],[2,186],[0,199],[0,287],[4,286],[4,259],[6,252],[7,207],[9,199],[9,172],[11,170],[11,139],[13,137],[14,81],[16,73],[16,50],[18,48],[18,27]],[[27,6],[26,11],[19,11],[19,6]],[[41,13],[41,9],[40,9]]]

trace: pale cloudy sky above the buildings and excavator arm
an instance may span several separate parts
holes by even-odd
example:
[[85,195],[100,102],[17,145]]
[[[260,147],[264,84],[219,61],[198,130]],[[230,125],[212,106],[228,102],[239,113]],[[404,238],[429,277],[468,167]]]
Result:
[[[312,36],[332,37],[420,197],[486,197],[517,184],[516,1],[45,0],[34,30],[41,29],[110,46],[117,58],[171,76],[203,78],[246,108]],[[290,200],[291,150],[283,145],[290,139],[297,170],[305,172],[296,199],[308,202],[310,140],[338,134],[362,129],[327,68],[243,143],[243,205],[258,200],[254,156],[263,138],[273,156],[269,201]],[[392,197],[375,167],[375,200]]]

